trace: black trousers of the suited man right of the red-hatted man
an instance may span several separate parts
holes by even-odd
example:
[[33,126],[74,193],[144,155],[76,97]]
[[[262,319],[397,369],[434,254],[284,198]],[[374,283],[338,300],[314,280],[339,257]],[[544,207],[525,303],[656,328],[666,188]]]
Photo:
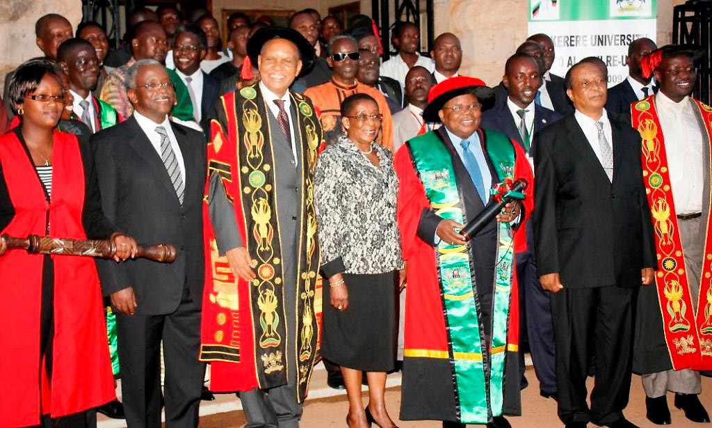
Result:
[[[551,295],[562,422],[610,424],[623,417],[630,392],[637,294],[638,288],[609,286],[564,288]],[[586,377],[594,352],[596,376],[589,410]]]

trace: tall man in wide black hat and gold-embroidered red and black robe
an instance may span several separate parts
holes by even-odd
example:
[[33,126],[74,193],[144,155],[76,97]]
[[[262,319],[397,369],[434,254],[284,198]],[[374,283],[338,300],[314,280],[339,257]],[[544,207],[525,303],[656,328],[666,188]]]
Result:
[[288,88],[314,51],[279,27],[247,51],[261,82],[222,95],[211,121],[200,359],[212,391],[240,392],[249,427],[296,428],[318,356],[323,138],[309,98]]

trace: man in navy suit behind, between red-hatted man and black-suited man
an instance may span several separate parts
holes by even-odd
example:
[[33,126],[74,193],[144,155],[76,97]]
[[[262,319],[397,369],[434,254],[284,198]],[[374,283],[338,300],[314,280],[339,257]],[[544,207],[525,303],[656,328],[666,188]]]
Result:
[[[534,103],[541,85],[539,66],[536,60],[523,53],[509,57],[505,65],[502,83],[507,88],[506,103],[496,105],[482,113],[482,126],[501,132],[518,142],[529,159],[530,142],[535,132],[559,120],[561,115]],[[521,311],[522,331],[529,338],[529,347],[534,370],[539,379],[543,397],[556,395],[556,367],[554,354],[554,328],[551,321],[549,293],[542,290],[536,273],[534,239],[530,224],[527,225],[527,250],[518,253],[517,276]],[[524,354],[520,353],[520,372],[524,375]],[[526,380],[523,379],[526,385]]]

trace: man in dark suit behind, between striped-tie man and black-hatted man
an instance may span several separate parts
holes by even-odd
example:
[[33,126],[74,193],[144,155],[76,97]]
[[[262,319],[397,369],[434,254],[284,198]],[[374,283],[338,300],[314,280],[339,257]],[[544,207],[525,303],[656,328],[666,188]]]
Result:
[[207,46],[205,33],[196,24],[178,27],[173,43],[175,71],[188,88],[195,122],[209,133],[208,116],[220,95],[220,82],[200,69],[200,61],[205,58]]

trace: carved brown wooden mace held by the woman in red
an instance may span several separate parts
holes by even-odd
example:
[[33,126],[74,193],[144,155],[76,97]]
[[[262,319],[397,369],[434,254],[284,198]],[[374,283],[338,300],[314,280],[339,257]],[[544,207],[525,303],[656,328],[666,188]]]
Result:
[[[60,256],[88,256],[99,259],[113,259],[116,246],[110,239],[95,241],[91,239],[60,239],[49,236],[30,235],[26,239],[2,235],[0,239],[6,243],[7,250],[26,250],[30,254],[54,254]],[[173,263],[176,259],[176,249],[169,244],[137,246],[137,257]]]

